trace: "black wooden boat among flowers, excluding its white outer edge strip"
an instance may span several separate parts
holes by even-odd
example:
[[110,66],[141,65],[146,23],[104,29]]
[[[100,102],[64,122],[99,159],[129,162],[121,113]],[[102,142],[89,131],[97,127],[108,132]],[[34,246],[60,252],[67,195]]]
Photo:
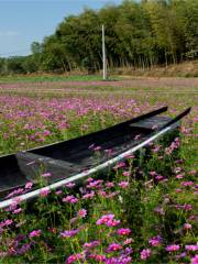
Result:
[[[178,127],[178,121],[189,109],[174,119],[158,116],[167,107],[90,133],[74,140],[20,152],[0,157],[0,194],[37,182],[38,174],[48,174],[48,184],[78,175],[108,160],[117,157],[132,147],[141,146],[152,135],[166,127]],[[144,144],[145,145],[145,144]],[[99,150],[100,151],[97,151]]]

